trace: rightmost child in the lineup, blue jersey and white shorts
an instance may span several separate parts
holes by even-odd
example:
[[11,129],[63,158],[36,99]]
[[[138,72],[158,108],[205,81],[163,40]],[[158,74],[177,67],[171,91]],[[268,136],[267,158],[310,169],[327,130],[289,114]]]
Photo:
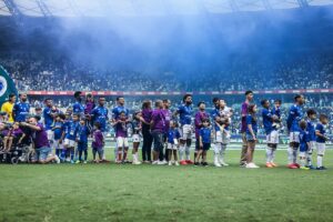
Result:
[[326,125],[329,123],[329,118],[325,114],[320,115],[320,122],[315,127],[315,135],[316,135],[316,170],[326,170],[323,165],[323,158],[325,154],[326,145],[325,142],[329,140],[326,137]]

